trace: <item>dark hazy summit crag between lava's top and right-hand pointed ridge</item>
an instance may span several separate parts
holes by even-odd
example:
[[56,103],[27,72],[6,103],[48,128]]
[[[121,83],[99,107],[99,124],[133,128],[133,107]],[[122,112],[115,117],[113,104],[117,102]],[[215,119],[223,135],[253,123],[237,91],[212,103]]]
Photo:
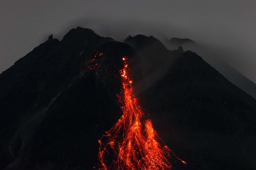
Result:
[[167,50],[167,48],[153,36],[136,35],[127,37],[125,43],[136,49],[136,56],[130,61],[130,73],[138,94],[159,81],[169,70],[173,62],[184,51]]

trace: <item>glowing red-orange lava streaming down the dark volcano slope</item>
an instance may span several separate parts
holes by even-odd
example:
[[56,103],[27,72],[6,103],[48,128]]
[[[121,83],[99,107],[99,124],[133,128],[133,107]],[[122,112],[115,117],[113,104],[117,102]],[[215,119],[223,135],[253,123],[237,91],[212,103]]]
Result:
[[127,58],[123,57],[122,60],[124,68],[120,74],[123,90],[118,99],[123,115],[99,140],[101,169],[171,169],[172,156],[186,164],[167,146],[163,146],[152,122],[145,119],[133,95],[132,81],[127,74]]

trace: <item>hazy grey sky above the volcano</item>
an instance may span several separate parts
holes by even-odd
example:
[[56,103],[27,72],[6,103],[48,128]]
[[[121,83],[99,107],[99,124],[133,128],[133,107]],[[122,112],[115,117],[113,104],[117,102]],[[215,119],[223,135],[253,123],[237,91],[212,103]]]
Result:
[[190,38],[256,82],[256,0],[1,0],[0,73],[71,28],[101,36]]

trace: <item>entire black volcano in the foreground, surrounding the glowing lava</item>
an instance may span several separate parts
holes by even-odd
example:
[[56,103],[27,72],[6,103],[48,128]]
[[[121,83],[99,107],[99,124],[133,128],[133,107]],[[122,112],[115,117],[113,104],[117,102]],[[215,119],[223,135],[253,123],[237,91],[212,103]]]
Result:
[[[96,52],[100,67],[88,72]],[[250,95],[181,47],[77,27],[0,74],[0,169],[98,168],[98,140],[122,115],[123,56],[141,107],[186,169],[256,168]]]

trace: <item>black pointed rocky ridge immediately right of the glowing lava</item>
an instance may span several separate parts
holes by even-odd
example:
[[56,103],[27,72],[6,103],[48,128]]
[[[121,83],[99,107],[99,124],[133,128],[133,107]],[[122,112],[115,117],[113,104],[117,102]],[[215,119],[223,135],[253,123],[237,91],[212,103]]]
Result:
[[254,169],[256,101],[186,51],[140,96],[162,139],[189,169]]

